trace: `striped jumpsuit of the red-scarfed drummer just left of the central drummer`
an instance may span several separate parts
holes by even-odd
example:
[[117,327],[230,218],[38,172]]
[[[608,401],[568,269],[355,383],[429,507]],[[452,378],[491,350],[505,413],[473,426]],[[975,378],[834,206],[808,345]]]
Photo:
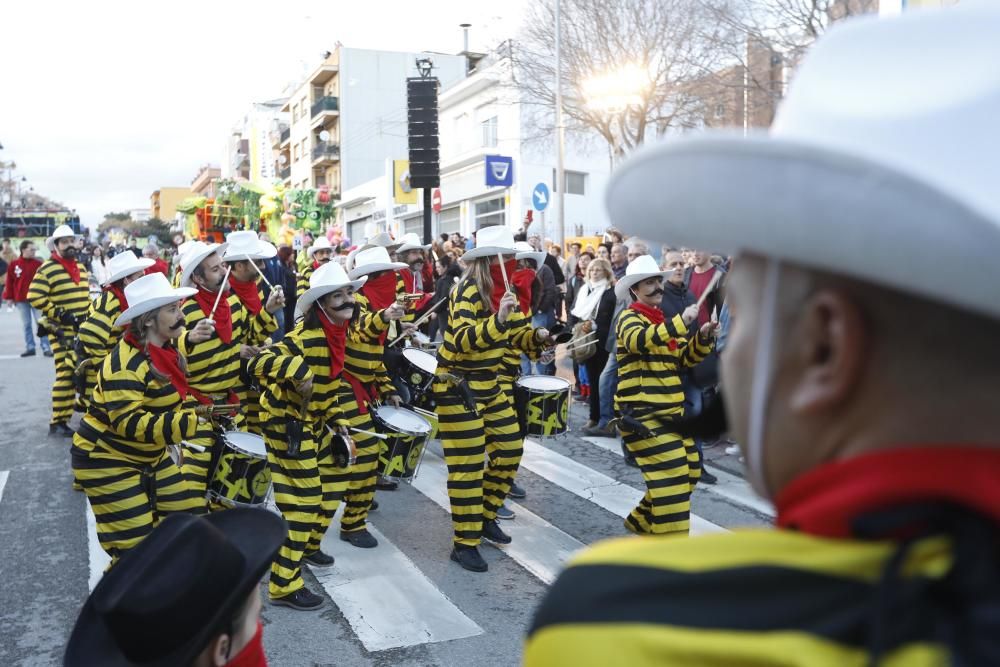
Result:
[[[361,412],[354,389],[346,376],[354,378],[365,387],[374,387],[383,402],[396,394],[396,387],[389,379],[383,363],[385,347],[379,341],[379,337],[389,330],[390,323],[382,319],[382,311],[371,309],[368,299],[360,292],[354,294],[354,302],[357,304],[357,315],[351,320],[351,326],[347,330],[345,377],[339,394],[340,410],[345,421],[353,428],[374,432],[377,429],[372,421],[371,411],[375,406],[370,405],[366,413]],[[352,437],[358,451],[357,461],[350,470],[350,486],[345,497],[347,504],[340,520],[340,530],[344,533],[366,528],[368,509],[375,498],[379,454],[383,447],[381,440],[370,435],[354,433]],[[386,456],[388,457],[388,453]]]

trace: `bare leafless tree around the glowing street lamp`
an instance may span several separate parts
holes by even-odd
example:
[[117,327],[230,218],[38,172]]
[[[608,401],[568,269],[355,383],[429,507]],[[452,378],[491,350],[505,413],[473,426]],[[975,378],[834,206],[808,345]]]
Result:
[[[733,21],[700,0],[563,0],[561,53],[567,132],[592,130],[620,157],[650,136],[690,126],[703,114],[697,88],[717,71]],[[511,48],[514,79],[528,107],[529,137],[555,130],[555,2],[540,0]],[[628,101],[607,107],[588,92],[598,76],[642,73]]]

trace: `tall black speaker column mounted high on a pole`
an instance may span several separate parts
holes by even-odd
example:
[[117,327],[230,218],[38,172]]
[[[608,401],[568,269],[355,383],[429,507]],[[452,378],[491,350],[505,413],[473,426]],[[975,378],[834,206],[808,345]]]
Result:
[[437,93],[437,79],[406,80],[410,185],[415,188],[436,188],[441,185]]

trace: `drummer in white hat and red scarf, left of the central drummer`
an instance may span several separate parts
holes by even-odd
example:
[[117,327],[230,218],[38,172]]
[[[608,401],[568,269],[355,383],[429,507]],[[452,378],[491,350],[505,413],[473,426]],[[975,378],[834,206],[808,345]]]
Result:
[[[344,380],[341,410],[355,428],[366,431],[371,428],[368,406],[375,399],[400,405],[402,402],[395,385],[389,379],[385,368],[385,341],[395,338],[396,322],[406,314],[405,308],[396,302],[397,273],[406,265],[393,262],[382,246],[371,246],[354,257],[354,268],[349,275],[352,279],[367,278],[357,294],[358,316],[351,327],[351,338],[347,345],[344,361]],[[401,331],[413,328],[412,324],[400,324]],[[379,479],[378,467],[380,443],[377,438],[358,434],[358,461],[351,473],[351,487],[345,500],[343,520],[340,523],[341,538],[354,546],[370,548],[376,545],[375,538],[368,532],[365,522],[368,509],[374,498],[375,489],[395,490],[399,483],[392,479]]]

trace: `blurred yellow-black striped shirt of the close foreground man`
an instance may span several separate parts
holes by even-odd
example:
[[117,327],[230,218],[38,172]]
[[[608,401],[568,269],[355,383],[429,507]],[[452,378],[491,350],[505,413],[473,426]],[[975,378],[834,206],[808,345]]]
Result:
[[[527,667],[931,667],[953,663],[943,617],[914,603],[883,633],[872,660],[873,612],[897,553],[887,541],[740,530],[690,540],[620,538],[571,561],[539,607]],[[915,544],[897,583],[911,593],[940,581],[949,542]],[[954,618],[954,616],[952,616]],[[915,626],[915,629],[914,629]],[[966,641],[965,638],[954,638]],[[987,664],[987,663],[968,663]],[[992,664],[992,663],[991,663]]]

